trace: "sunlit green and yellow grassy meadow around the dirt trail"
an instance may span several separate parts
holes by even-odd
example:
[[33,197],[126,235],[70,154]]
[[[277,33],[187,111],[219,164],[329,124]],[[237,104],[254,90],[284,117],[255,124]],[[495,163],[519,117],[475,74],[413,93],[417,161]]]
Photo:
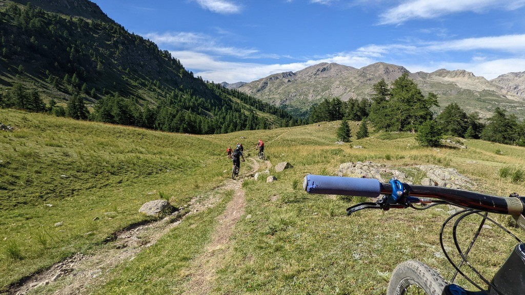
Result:
[[[241,218],[236,225],[214,293],[384,294],[387,272],[409,258],[450,275],[445,258],[435,255],[447,207],[426,212],[368,211],[346,217],[344,209],[353,204],[348,199],[300,190],[307,173],[334,174],[340,163],[350,161],[371,160],[394,167],[429,163],[457,168],[478,183],[478,191],[525,195],[523,184],[498,177],[502,166],[523,168],[525,149],[476,140],[467,141],[467,150],[434,150],[419,148],[412,134],[394,134],[389,140],[373,134],[373,138],[352,142],[364,149],[352,149],[334,143],[338,122],[213,136],[159,133],[6,110],[0,110],[0,122],[20,128],[0,133],[0,180],[16,188],[8,192],[9,197],[4,197],[7,191],[0,191],[1,228],[7,229],[2,234],[7,239],[0,239],[0,246],[6,249],[14,240],[26,256],[18,261],[8,258],[5,251],[0,254],[0,265],[7,265],[0,269],[3,287],[144,219],[137,213],[142,202],[159,198],[150,192],[163,192],[172,203],[182,205],[217,185],[227,176],[223,146],[240,136],[246,137],[246,148],[262,138],[273,165],[288,161],[294,167],[280,173],[272,170],[278,181],[271,184],[245,182],[245,214],[252,218]],[[496,155],[496,150],[503,155]],[[196,167],[187,168],[195,159]],[[416,169],[407,171],[418,176]],[[30,201],[25,204],[25,199]],[[107,285],[92,292],[182,293],[188,281],[185,268],[204,249],[213,220],[229,199],[227,195],[218,206],[185,219],[158,244],[109,273]],[[109,219],[105,212],[117,215]],[[92,221],[95,216],[101,217],[97,223]],[[64,225],[54,227],[61,220]],[[505,217],[499,220],[506,222]],[[90,231],[92,235],[84,235]],[[50,249],[39,242],[42,236],[48,237]],[[499,237],[497,231],[482,239],[485,242],[478,243],[480,248],[473,253],[482,269],[490,272],[514,242]],[[484,252],[493,255],[480,257]],[[52,287],[45,290],[40,292],[53,292]]]

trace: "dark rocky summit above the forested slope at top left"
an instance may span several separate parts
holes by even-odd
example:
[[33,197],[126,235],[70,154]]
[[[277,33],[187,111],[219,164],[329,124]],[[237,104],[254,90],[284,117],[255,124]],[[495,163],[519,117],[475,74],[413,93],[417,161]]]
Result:
[[89,0],[12,0],[22,5],[40,7],[48,12],[79,16],[88,19],[98,19],[103,22],[113,22],[100,7]]

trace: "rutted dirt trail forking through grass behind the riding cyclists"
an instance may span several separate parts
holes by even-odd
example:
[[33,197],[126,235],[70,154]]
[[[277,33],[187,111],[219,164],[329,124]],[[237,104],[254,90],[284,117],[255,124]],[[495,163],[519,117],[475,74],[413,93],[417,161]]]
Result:
[[[190,268],[189,275],[192,279],[188,283],[188,291],[185,294],[207,294],[211,290],[215,270],[220,264],[217,257],[227,248],[233,226],[244,213],[242,182],[259,170],[259,164],[255,159],[248,158],[248,160],[252,162],[250,171],[242,174],[236,180],[226,180],[209,194],[197,196],[188,204],[190,210],[188,214],[194,214],[219,202],[223,195],[221,192],[232,189],[235,191],[233,200],[228,203],[226,211],[217,220],[218,227],[212,236],[212,243],[208,245],[201,257],[195,259]],[[56,286],[54,294],[88,294],[90,290],[106,283],[106,273],[116,268],[121,262],[133,259],[144,248],[155,244],[172,228],[183,222],[184,217],[175,223],[170,223],[169,217],[166,217],[157,222],[137,225],[124,230],[117,234],[115,241],[108,243],[95,253],[77,254],[58,262],[38,275],[26,279],[20,285],[10,288],[8,294],[22,295],[34,288],[47,285]]]

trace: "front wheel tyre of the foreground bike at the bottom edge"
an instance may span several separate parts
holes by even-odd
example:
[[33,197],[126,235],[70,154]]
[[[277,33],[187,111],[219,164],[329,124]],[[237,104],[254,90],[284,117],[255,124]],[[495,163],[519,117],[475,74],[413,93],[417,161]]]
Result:
[[445,280],[434,269],[417,260],[401,262],[392,272],[387,295],[442,294]]

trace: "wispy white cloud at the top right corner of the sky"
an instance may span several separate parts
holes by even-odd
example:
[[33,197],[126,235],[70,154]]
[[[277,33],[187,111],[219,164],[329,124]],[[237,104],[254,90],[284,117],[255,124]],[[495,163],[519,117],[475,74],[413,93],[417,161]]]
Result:
[[436,18],[459,12],[480,13],[490,8],[514,10],[525,6],[525,0],[412,0],[388,9],[380,15],[380,24],[402,24],[415,18]]

